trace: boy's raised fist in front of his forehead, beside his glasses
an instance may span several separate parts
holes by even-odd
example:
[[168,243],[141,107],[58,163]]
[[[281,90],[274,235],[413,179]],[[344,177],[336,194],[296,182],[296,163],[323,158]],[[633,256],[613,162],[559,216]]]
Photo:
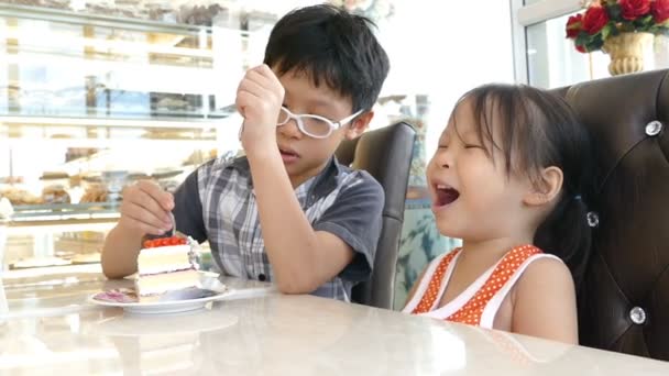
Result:
[[244,118],[241,132],[246,154],[276,146],[276,122],[284,87],[265,64],[249,69],[237,89],[237,109]]

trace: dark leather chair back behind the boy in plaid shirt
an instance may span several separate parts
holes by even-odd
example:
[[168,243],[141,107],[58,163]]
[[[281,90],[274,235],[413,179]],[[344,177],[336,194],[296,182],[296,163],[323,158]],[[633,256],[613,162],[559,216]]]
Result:
[[365,132],[343,142],[337,158],[344,165],[370,173],[385,192],[381,237],[372,276],[353,288],[352,300],[362,305],[392,308],[395,292],[395,267],[404,221],[404,200],[414,151],[414,129],[401,122]]

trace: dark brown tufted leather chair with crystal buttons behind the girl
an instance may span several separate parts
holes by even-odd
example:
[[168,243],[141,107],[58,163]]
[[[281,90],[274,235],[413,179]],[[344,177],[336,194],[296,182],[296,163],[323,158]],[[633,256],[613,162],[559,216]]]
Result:
[[669,361],[669,70],[555,92],[591,131],[601,176],[581,343]]

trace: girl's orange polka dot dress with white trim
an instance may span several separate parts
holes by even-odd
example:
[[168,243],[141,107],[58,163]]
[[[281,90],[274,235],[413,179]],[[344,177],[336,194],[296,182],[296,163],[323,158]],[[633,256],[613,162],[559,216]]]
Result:
[[454,248],[430,263],[404,312],[492,329],[502,301],[527,266],[542,257],[559,259],[534,245],[517,246],[452,301],[438,307],[460,253],[461,248]]

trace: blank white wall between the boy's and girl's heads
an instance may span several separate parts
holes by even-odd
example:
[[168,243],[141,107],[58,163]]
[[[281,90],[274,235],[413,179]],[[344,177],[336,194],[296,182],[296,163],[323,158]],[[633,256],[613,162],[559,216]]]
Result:
[[487,82],[513,82],[511,7],[504,0],[396,0],[380,23],[391,58],[382,96],[428,95],[427,156],[462,93]]

